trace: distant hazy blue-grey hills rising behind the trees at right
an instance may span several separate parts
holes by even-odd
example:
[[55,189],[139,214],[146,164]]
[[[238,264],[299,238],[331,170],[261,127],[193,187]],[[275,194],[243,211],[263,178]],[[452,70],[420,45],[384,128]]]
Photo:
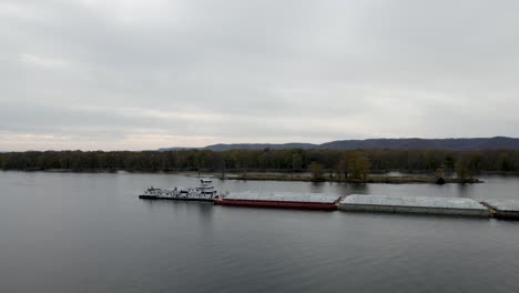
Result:
[[172,150],[284,150],[284,149],[317,149],[317,150],[449,150],[449,151],[481,151],[498,149],[519,149],[519,139],[495,137],[495,138],[475,138],[475,139],[368,139],[368,140],[340,140],[325,142],[322,144],[313,143],[231,143],[213,144],[205,148],[163,148],[160,151]]

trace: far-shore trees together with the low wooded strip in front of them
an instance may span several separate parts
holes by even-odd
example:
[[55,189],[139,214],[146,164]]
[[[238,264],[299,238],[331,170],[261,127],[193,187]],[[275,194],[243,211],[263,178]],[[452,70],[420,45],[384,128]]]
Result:
[[[241,180],[427,183],[445,173],[446,182],[475,183],[482,172],[519,174],[518,150],[179,150],[28,151],[0,153],[2,170],[203,171]],[[369,175],[387,171],[424,176]],[[257,174],[247,172],[279,172]],[[291,174],[284,174],[284,173]],[[301,174],[293,174],[299,172]]]

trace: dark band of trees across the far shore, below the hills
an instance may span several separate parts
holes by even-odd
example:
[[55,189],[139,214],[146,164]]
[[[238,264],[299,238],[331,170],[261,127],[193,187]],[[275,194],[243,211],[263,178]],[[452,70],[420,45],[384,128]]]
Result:
[[[45,151],[0,153],[3,170],[129,170],[174,171],[204,170],[214,172],[304,171],[323,168],[345,174],[353,165],[370,171],[435,171],[444,166],[467,172],[519,172],[519,151],[440,151],[440,150],[210,150],[181,151]],[[318,165],[316,165],[318,164]],[[354,170],[355,171],[355,170]]]

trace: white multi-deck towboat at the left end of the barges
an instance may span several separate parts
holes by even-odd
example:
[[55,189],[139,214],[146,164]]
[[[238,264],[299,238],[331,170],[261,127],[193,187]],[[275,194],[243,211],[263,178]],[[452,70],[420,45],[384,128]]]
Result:
[[169,190],[151,186],[144,191],[144,194],[139,195],[139,199],[213,202],[217,195],[212,183],[213,181],[210,179],[201,179],[197,188],[174,188]]

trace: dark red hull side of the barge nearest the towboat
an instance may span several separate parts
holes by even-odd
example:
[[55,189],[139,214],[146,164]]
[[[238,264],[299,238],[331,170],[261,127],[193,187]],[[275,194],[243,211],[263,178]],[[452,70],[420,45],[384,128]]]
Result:
[[246,208],[267,208],[267,209],[292,209],[292,210],[314,210],[314,211],[335,211],[335,203],[319,202],[287,202],[287,201],[261,201],[261,200],[228,200],[217,199],[214,204],[234,205]]

